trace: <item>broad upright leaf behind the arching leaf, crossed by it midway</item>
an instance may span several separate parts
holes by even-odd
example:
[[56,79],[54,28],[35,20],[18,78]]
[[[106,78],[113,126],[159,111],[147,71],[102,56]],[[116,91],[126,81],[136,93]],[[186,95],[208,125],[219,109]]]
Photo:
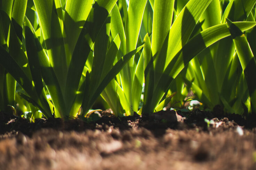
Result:
[[[219,0],[212,0],[207,9],[200,17],[202,22],[201,28],[207,29],[211,26],[220,24],[221,21],[221,9]],[[204,92],[205,96],[212,102],[212,105],[219,104],[218,96],[218,83],[216,77],[216,70],[213,60],[213,55],[217,50],[217,46],[211,46],[206,48],[195,58],[191,60],[192,69],[195,72],[194,84],[199,86]],[[193,64],[193,65],[192,65]],[[190,79],[192,77],[189,77]]]

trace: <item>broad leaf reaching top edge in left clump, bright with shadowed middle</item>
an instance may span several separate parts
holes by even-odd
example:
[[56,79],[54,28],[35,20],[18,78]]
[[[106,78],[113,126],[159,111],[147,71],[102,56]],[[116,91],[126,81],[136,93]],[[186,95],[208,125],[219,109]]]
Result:
[[63,14],[60,0],[33,0],[44,36],[47,56],[61,86],[66,83],[67,60],[63,40]]

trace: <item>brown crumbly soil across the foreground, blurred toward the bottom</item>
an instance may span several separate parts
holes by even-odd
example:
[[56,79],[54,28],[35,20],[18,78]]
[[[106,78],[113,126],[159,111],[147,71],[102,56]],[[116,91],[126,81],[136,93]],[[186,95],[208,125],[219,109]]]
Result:
[[101,117],[95,122],[29,123],[1,112],[0,169],[256,169],[253,116],[225,114],[218,107],[119,119],[109,113],[92,113]]

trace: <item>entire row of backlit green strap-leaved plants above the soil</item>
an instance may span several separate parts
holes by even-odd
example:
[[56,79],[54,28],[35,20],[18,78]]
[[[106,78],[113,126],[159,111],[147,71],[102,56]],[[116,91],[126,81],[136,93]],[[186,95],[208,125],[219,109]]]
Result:
[[[256,112],[256,0],[0,0],[0,110],[153,113],[192,90]],[[16,93],[17,92],[17,93]]]

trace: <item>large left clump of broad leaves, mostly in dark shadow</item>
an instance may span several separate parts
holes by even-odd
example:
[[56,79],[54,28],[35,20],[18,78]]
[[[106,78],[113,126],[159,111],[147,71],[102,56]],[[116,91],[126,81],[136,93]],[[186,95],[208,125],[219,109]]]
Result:
[[[19,29],[6,11],[1,11],[1,18],[10,23],[10,32],[21,31],[11,34],[14,42],[8,51],[0,46],[0,64],[24,89],[20,96],[46,118],[53,113],[61,118],[76,116],[81,106],[85,116],[108,83],[143,47],[115,61],[120,37],[118,34],[110,41],[110,11],[116,1],[67,0],[62,8],[59,0],[33,0],[31,8],[38,14],[39,25],[33,26],[31,18],[21,15]],[[25,11],[27,0],[18,3],[17,8]],[[89,70],[85,63],[91,57]]]

